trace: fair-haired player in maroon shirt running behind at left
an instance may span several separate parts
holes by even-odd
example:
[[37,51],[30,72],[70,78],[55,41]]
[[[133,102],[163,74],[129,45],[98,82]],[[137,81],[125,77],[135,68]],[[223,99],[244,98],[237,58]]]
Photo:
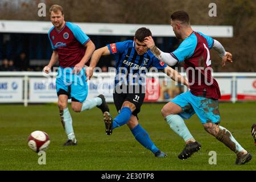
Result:
[[60,110],[61,123],[68,140],[64,146],[76,146],[77,141],[72,126],[71,114],[68,110],[68,99],[71,98],[73,111],[81,112],[97,106],[102,113],[109,112],[105,97],[100,94],[92,100],[86,100],[88,87],[84,65],[92,56],[95,46],[92,40],[73,23],[65,22],[63,8],[52,5],[49,9],[53,27],[48,37],[53,49],[49,64],[43,71],[49,73],[59,60],[56,78],[56,90]]

